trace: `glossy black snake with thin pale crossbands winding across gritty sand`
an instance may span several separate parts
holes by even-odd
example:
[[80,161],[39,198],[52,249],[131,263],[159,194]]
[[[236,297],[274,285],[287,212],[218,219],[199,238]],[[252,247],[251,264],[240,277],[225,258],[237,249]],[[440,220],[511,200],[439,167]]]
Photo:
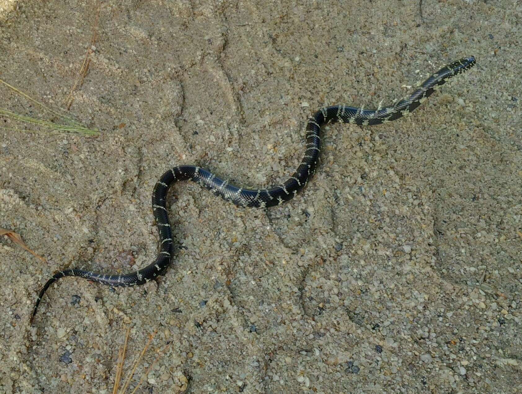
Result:
[[64,277],[77,277],[113,287],[138,286],[156,280],[171,265],[174,254],[172,230],[168,216],[167,192],[180,181],[192,181],[226,201],[239,207],[269,208],[292,199],[302,190],[315,174],[321,153],[322,128],[328,123],[350,123],[360,126],[378,125],[395,121],[411,113],[446,81],[473,67],[475,58],[465,57],[449,63],[432,74],[408,97],[383,108],[368,110],[346,105],[333,105],[319,109],[306,125],[306,146],[303,159],[288,180],[268,189],[250,189],[234,186],[208,170],[196,165],[180,165],[166,171],[159,178],[152,192],[152,211],[159,235],[159,252],[156,260],[135,272],[106,275],[81,269],[66,269],[56,272],[43,286],[35,302],[31,323],[38,305],[49,286]]

